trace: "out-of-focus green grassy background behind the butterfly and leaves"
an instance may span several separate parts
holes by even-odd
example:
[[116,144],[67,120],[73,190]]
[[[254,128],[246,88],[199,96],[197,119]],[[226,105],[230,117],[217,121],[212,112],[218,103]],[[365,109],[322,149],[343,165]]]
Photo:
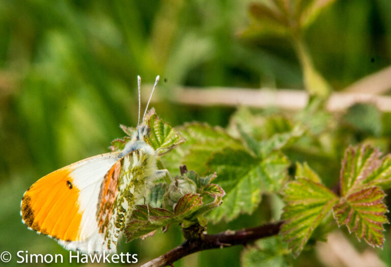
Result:
[[[21,197],[39,177],[108,152],[110,141],[124,135],[120,124],[135,126],[136,75],[144,83],[160,75],[157,97],[178,85],[303,88],[289,41],[240,34],[250,21],[249,4],[1,0],[0,251],[14,257],[19,250],[68,255],[21,223]],[[337,1],[310,25],[304,40],[334,90],[390,64],[390,11],[389,0]],[[173,126],[191,121],[226,126],[235,111],[160,99],[153,106]],[[208,230],[255,226],[262,221],[257,214]],[[137,253],[145,262],[182,241],[172,226],[144,241],[122,242],[119,251]],[[175,266],[237,266],[240,250],[204,251]]]

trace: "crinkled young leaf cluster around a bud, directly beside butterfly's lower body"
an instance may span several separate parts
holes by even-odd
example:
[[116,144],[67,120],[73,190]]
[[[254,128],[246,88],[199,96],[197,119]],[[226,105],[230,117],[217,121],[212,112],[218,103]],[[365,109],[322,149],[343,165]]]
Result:
[[148,206],[135,206],[125,227],[127,240],[149,236],[151,232],[172,223],[181,223],[182,228],[198,222],[206,226],[204,213],[220,205],[225,195],[221,187],[210,184],[214,177],[216,174],[200,177],[194,171],[188,171],[175,177],[175,186],[155,185],[147,195]]

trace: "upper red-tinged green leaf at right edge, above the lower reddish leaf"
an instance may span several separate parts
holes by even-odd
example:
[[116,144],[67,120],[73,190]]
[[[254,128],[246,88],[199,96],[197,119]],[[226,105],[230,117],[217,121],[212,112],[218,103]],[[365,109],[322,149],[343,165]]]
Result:
[[342,196],[362,187],[391,187],[391,155],[382,157],[378,149],[367,144],[349,146],[342,161],[340,184]]

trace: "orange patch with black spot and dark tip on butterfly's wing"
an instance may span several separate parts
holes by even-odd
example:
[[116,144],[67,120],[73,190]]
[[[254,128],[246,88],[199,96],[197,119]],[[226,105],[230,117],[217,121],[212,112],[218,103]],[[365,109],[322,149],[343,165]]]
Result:
[[21,215],[33,230],[55,239],[78,241],[80,191],[69,173],[68,168],[62,168],[33,184],[23,195]]

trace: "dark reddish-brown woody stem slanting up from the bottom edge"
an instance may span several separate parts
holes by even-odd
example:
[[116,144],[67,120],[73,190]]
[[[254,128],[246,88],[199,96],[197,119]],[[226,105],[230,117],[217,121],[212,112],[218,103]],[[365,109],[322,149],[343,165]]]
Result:
[[238,231],[227,230],[217,234],[201,234],[198,239],[185,240],[178,247],[148,261],[141,267],[167,266],[194,252],[245,245],[249,242],[278,234],[282,224],[283,222],[280,221]]

